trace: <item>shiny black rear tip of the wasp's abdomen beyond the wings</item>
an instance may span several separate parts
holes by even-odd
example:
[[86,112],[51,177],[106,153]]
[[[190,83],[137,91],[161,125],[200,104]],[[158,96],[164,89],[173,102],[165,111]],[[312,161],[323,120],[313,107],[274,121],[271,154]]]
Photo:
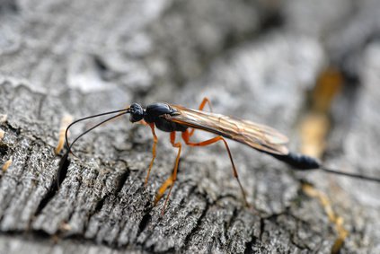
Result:
[[287,153],[287,155],[270,154],[279,161],[286,162],[296,170],[316,170],[321,168],[321,163],[317,159],[298,153]]

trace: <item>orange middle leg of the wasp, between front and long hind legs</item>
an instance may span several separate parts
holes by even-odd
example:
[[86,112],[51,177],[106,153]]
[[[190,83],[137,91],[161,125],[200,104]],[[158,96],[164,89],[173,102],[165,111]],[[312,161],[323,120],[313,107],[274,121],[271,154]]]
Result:
[[181,142],[175,143],[175,131],[170,133],[170,142],[172,143],[172,147],[178,148],[177,158],[175,158],[174,162],[174,169],[172,170],[172,175],[163,182],[163,185],[159,188],[157,196],[155,197],[155,204],[163,197],[163,193],[165,192],[166,188],[169,188],[169,193],[165,199],[165,203],[163,204],[163,212],[165,211],[167,202],[169,200],[170,194],[172,193],[172,187],[174,186],[175,180],[177,180],[177,171],[178,171],[178,164],[180,162],[180,156],[181,156]]

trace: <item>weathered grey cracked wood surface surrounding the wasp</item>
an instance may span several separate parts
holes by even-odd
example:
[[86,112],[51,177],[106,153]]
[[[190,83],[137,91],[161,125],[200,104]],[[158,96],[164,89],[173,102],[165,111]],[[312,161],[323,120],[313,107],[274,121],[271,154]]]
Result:
[[[170,204],[153,206],[175,150],[126,119],[75,146],[56,189],[61,118],[170,101],[266,123],[295,140],[306,93],[331,63],[347,85],[334,103],[326,162],[379,175],[377,1],[4,1],[0,5],[1,253],[329,253],[336,232],[307,179],[345,219],[343,253],[380,251],[379,186],[290,171],[230,142],[243,206],[221,145],[185,149]],[[72,136],[86,126],[77,127]],[[199,133],[196,139],[208,135]]]

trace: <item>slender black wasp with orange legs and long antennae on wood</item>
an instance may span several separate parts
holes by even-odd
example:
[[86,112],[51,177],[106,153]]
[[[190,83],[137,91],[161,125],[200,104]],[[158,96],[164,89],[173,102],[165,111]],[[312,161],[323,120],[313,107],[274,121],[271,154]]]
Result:
[[[110,112],[105,112],[98,115],[93,115],[86,118],[80,118],[75,120],[66,128],[66,146],[67,150],[60,162],[60,169],[62,170],[64,164],[66,164],[68,159],[68,154],[71,152],[72,146],[75,142],[86,133],[93,130],[95,127],[101,126],[103,123],[110,121],[113,118],[119,118],[122,115],[129,114],[129,121],[131,123],[140,123],[151,128],[153,135],[153,148],[152,148],[152,160],[149,164],[149,168],[146,174],[145,185],[148,182],[149,174],[152,170],[153,164],[155,162],[156,156],[156,145],[158,138],[155,135],[155,128],[162,130],[164,132],[170,133],[170,142],[174,148],[178,149],[177,156],[174,162],[174,167],[170,177],[165,180],[162,186],[158,189],[155,197],[155,204],[163,197],[165,191],[169,188],[169,192],[166,196],[163,211],[167,205],[170,194],[172,192],[172,187],[177,180],[178,165],[181,157],[181,142],[176,140],[176,132],[181,133],[181,138],[186,145],[190,146],[207,146],[212,145],[217,142],[222,142],[225,145],[225,150],[228,153],[229,159],[232,164],[232,170],[234,174],[234,179],[237,180],[239,187],[242,191],[242,196],[245,205],[248,206],[245,191],[242,183],[239,180],[239,176],[234,164],[234,159],[231,154],[230,148],[228,147],[226,139],[232,139],[234,141],[240,142],[244,145],[248,145],[253,149],[260,151],[261,153],[267,153],[276,159],[286,162],[292,168],[296,170],[322,170],[329,173],[334,173],[338,175],[349,176],[352,178],[357,178],[361,180],[372,180],[380,182],[380,179],[362,176],[358,174],[352,174],[343,171],[330,170],[323,166],[321,162],[313,157],[292,153],[287,149],[288,138],[287,136],[280,134],[277,130],[265,125],[256,124],[249,120],[238,119],[233,117],[227,117],[225,115],[216,114],[213,112],[204,111],[204,107],[208,104],[211,109],[211,103],[208,98],[205,98],[202,103],[200,103],[199,109],[189,109],[180,105],[173,105],[165,102],[157,102],[147,105],[143,108],[138,103],[132,103],[126,109],[119,109]],[[71,145],[69,145],[67,140],[67,132],[70,127],[75,125],[77,122],[89,119],[97,118],[105,115],[116,114],[110,118],[107,118],[100,122],[99,124],[89,128],[84,131],[80,136],[77,136]],[[191,141],[191,136],[193,136],[196,129],[206,131],[216,136],[202,142]],[[58,175],[59,175],[58,171]],[[58,180],[59,183],[59,180]]]

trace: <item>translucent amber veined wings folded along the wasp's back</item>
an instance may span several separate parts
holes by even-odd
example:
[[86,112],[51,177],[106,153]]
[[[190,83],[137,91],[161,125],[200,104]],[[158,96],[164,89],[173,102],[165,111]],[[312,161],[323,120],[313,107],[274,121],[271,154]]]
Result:
[[170,121],[233,139],[265,153],[289,153],[286,146],[287,136],[271,127],[179,105],[170,106],[177,110],[172,116],[167,117]]

